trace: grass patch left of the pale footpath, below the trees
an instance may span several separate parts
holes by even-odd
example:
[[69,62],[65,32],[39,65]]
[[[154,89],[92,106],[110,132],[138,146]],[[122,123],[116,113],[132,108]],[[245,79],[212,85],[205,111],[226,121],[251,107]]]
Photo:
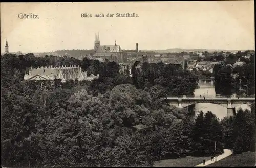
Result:
[[187,156],[185,158],[178,159],[166,159],[156,161],[154,163],[154,167],[186,167],[186,166],[196,166],[203,162],[203,158],[205,160],[210,160],[210,157],[191,157]]

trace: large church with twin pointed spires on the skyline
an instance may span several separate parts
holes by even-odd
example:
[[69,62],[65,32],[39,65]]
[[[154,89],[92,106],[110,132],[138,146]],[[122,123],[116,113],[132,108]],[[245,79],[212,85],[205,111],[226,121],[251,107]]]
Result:
[[99,32],[98,36],[97,32],[95,32],[93,58],[123,63],[125,59],[124,55],[124,52],[121,50],[120,45],[116,44],[116,41],[115,45],[100,45]]

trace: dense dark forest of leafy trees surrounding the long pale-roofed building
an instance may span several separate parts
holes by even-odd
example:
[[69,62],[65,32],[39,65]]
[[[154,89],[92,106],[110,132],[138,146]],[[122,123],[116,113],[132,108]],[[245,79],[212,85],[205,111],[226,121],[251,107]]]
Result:
[[[38,66],[79,65],[93,81],[24,81]],[[152,166],[186,156],[255,151],[255,105],[222,121],[196,119],[165,96],[193,96],[198,77],[179,65],[135,62],[132,77],[115,62],[69,57],[1,57],[2,165]],[[217,149],[215,151],[215,142]]]

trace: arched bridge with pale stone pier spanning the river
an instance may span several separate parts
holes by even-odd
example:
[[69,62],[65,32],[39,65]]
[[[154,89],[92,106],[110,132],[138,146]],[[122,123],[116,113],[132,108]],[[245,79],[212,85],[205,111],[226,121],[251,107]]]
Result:
[[255,98],[224,98],[224,97],[166,97],[165,101],[172,106],[184,108],[197,103],[218,104],[227,108],[227,116],[233,116],[233,108],[242,104],[251,104]]

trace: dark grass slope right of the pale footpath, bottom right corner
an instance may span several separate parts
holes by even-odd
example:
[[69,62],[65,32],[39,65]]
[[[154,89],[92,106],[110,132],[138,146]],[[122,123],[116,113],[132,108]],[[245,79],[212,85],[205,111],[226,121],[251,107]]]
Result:
[[216,163],[207,165],[211,166],[255,166],[256,152],[244,152],[242,154],[230,155]]

